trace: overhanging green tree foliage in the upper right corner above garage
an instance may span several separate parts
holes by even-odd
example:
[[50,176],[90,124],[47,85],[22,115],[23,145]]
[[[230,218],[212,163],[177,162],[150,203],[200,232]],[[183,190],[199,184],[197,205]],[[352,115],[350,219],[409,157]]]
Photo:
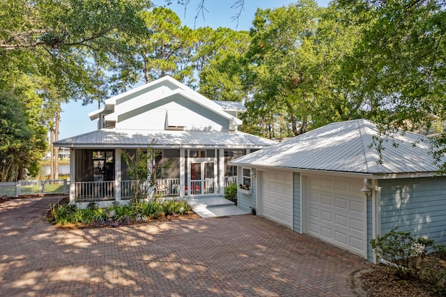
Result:
[[[446,2],[339,0],[333,5],[351,10],[362,26],[346,80],[356,89],[353,96],[367,102],[380,132],[429,130],[433,122],[443,123]],[[436,132],[433,150],[439,157],[446,152],[446,133]]]

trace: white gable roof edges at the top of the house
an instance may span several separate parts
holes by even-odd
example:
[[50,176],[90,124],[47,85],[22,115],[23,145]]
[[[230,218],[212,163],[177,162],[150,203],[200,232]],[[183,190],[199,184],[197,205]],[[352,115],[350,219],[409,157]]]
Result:
[[[129,102],[131,99],[143,96],[146,93],[151,93],[151,96],[144,98],[144,100],[138,100],[138,102],[135,102],[134,100]],[[93,121],[94,119],[98,119],[100,114],[109,111],[107,116],[105,116],[106,121],[117,121],[118,114],[129,112],[131,109],[146,106],[152,102],[162,100],[175,94],[179,94],[184,98],[192,100],[206,109],[228,119],[230,125],[241,125],[243,123],[240,119],[225,112],[224,107],[221,104],[217,104],[217,102],[206,98],[197,91],[190,89],[185,84],[181,84],[169,75],[105,100],[105,107],[98,109],[95,112],[91,112],[89,117]],[[119,111],[116,110],[117,105],[119,105]]]

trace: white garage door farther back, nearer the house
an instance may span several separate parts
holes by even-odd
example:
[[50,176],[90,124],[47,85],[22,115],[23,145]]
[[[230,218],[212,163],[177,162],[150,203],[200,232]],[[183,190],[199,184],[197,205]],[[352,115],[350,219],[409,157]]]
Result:
[[261,215],[284,224],[293,225],[293,173],[261,172]]

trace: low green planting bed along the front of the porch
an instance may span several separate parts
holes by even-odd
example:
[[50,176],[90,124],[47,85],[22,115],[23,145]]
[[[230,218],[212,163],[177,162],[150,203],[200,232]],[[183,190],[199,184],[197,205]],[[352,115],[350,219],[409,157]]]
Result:
[[148,220],[164,220],[197,218],[192,207],[185,200],[171,199],[165,201],[139,200],[123,205],[115,202],[107,208],[100,208],[91,202],[86,208],[78,208],[76,204],[59,203],[49,206],[49,222],[58,226],[76,227],[120,227],[134,222]]

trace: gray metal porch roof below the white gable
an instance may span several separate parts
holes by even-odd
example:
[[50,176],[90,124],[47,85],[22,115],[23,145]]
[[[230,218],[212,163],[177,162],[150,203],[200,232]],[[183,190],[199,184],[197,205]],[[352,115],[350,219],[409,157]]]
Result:
[[77,148],[128,148],[148,144],[160,148],[264,148],[277,142],[240,131],[124,129],[101,129],[54,142],[56,146]]

